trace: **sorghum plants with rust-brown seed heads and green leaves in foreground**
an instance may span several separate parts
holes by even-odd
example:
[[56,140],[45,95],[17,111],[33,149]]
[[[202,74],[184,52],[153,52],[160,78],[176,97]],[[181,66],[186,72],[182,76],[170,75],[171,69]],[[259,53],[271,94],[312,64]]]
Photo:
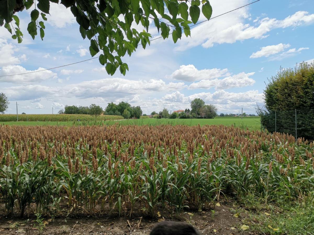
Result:
[[180,217],[224,196],[296,200],[314,188],[313,143],[226,126],[1,126],[0,203],[21,217]]

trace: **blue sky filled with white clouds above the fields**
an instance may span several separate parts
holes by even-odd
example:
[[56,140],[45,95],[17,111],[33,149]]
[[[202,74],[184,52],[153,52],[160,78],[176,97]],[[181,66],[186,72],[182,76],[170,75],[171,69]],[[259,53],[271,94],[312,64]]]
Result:
[[[252,1],[213,0],[212,16]],[[23,43],[0,28],[0,75],[51,68],[91,58],[89,41],[63,5],[51,3],[44,40],[31,39],[29,11],[19,13]],[[200,17],[202,21],[204,16]],[[140,25],[134,28],[142,30]],[[159,34],[151,22],[152,37]],[[267,78],[280,66],[314,60],[314,4],[311,0],[260,0],[192,27],[191,37],[176,44],[154,40],[145,50],[123,58],[126,76],[107,75],[98,59],[24,76],[0,77],[0,92],[10,101],[7,113],[51,113],[64,105],[105,108],[108,102],[139,105],[144,113],[190,108],[194,98],[214,104],[218,112],[254,113],[263,104]]]

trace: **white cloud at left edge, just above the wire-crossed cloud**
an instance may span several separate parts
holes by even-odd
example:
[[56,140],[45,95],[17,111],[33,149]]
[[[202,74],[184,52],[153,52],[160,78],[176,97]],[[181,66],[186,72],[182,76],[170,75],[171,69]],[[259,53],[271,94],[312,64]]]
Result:
[[6,40],[0,39],[0,67],[19,64],[20,60],[26,60],[26,55],[14,56],[18,48]]

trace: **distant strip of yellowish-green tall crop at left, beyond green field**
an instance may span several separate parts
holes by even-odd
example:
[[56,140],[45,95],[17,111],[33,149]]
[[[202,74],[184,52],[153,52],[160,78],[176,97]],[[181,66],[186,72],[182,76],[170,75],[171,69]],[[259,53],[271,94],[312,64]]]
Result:
[[[16,121],[15,114],[0,115],[0,122],[14,122]],[[43,121],[43,122],[68,122],[68,121],[95,121],[95,116],[88,114],[20,114],[19,121]],[[96,117],[97,121],[105,120],[120,120],[122,116],[117,115],[100,115]]]

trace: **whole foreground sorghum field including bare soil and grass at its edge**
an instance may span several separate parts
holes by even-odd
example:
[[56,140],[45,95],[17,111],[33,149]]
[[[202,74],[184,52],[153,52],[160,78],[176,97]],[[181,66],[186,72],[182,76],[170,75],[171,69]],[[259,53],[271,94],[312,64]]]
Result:
[[293,136],[224,125],[0,130],[1,234],[148,234],[168,219],[203,234],[314,229],[314,146]]

